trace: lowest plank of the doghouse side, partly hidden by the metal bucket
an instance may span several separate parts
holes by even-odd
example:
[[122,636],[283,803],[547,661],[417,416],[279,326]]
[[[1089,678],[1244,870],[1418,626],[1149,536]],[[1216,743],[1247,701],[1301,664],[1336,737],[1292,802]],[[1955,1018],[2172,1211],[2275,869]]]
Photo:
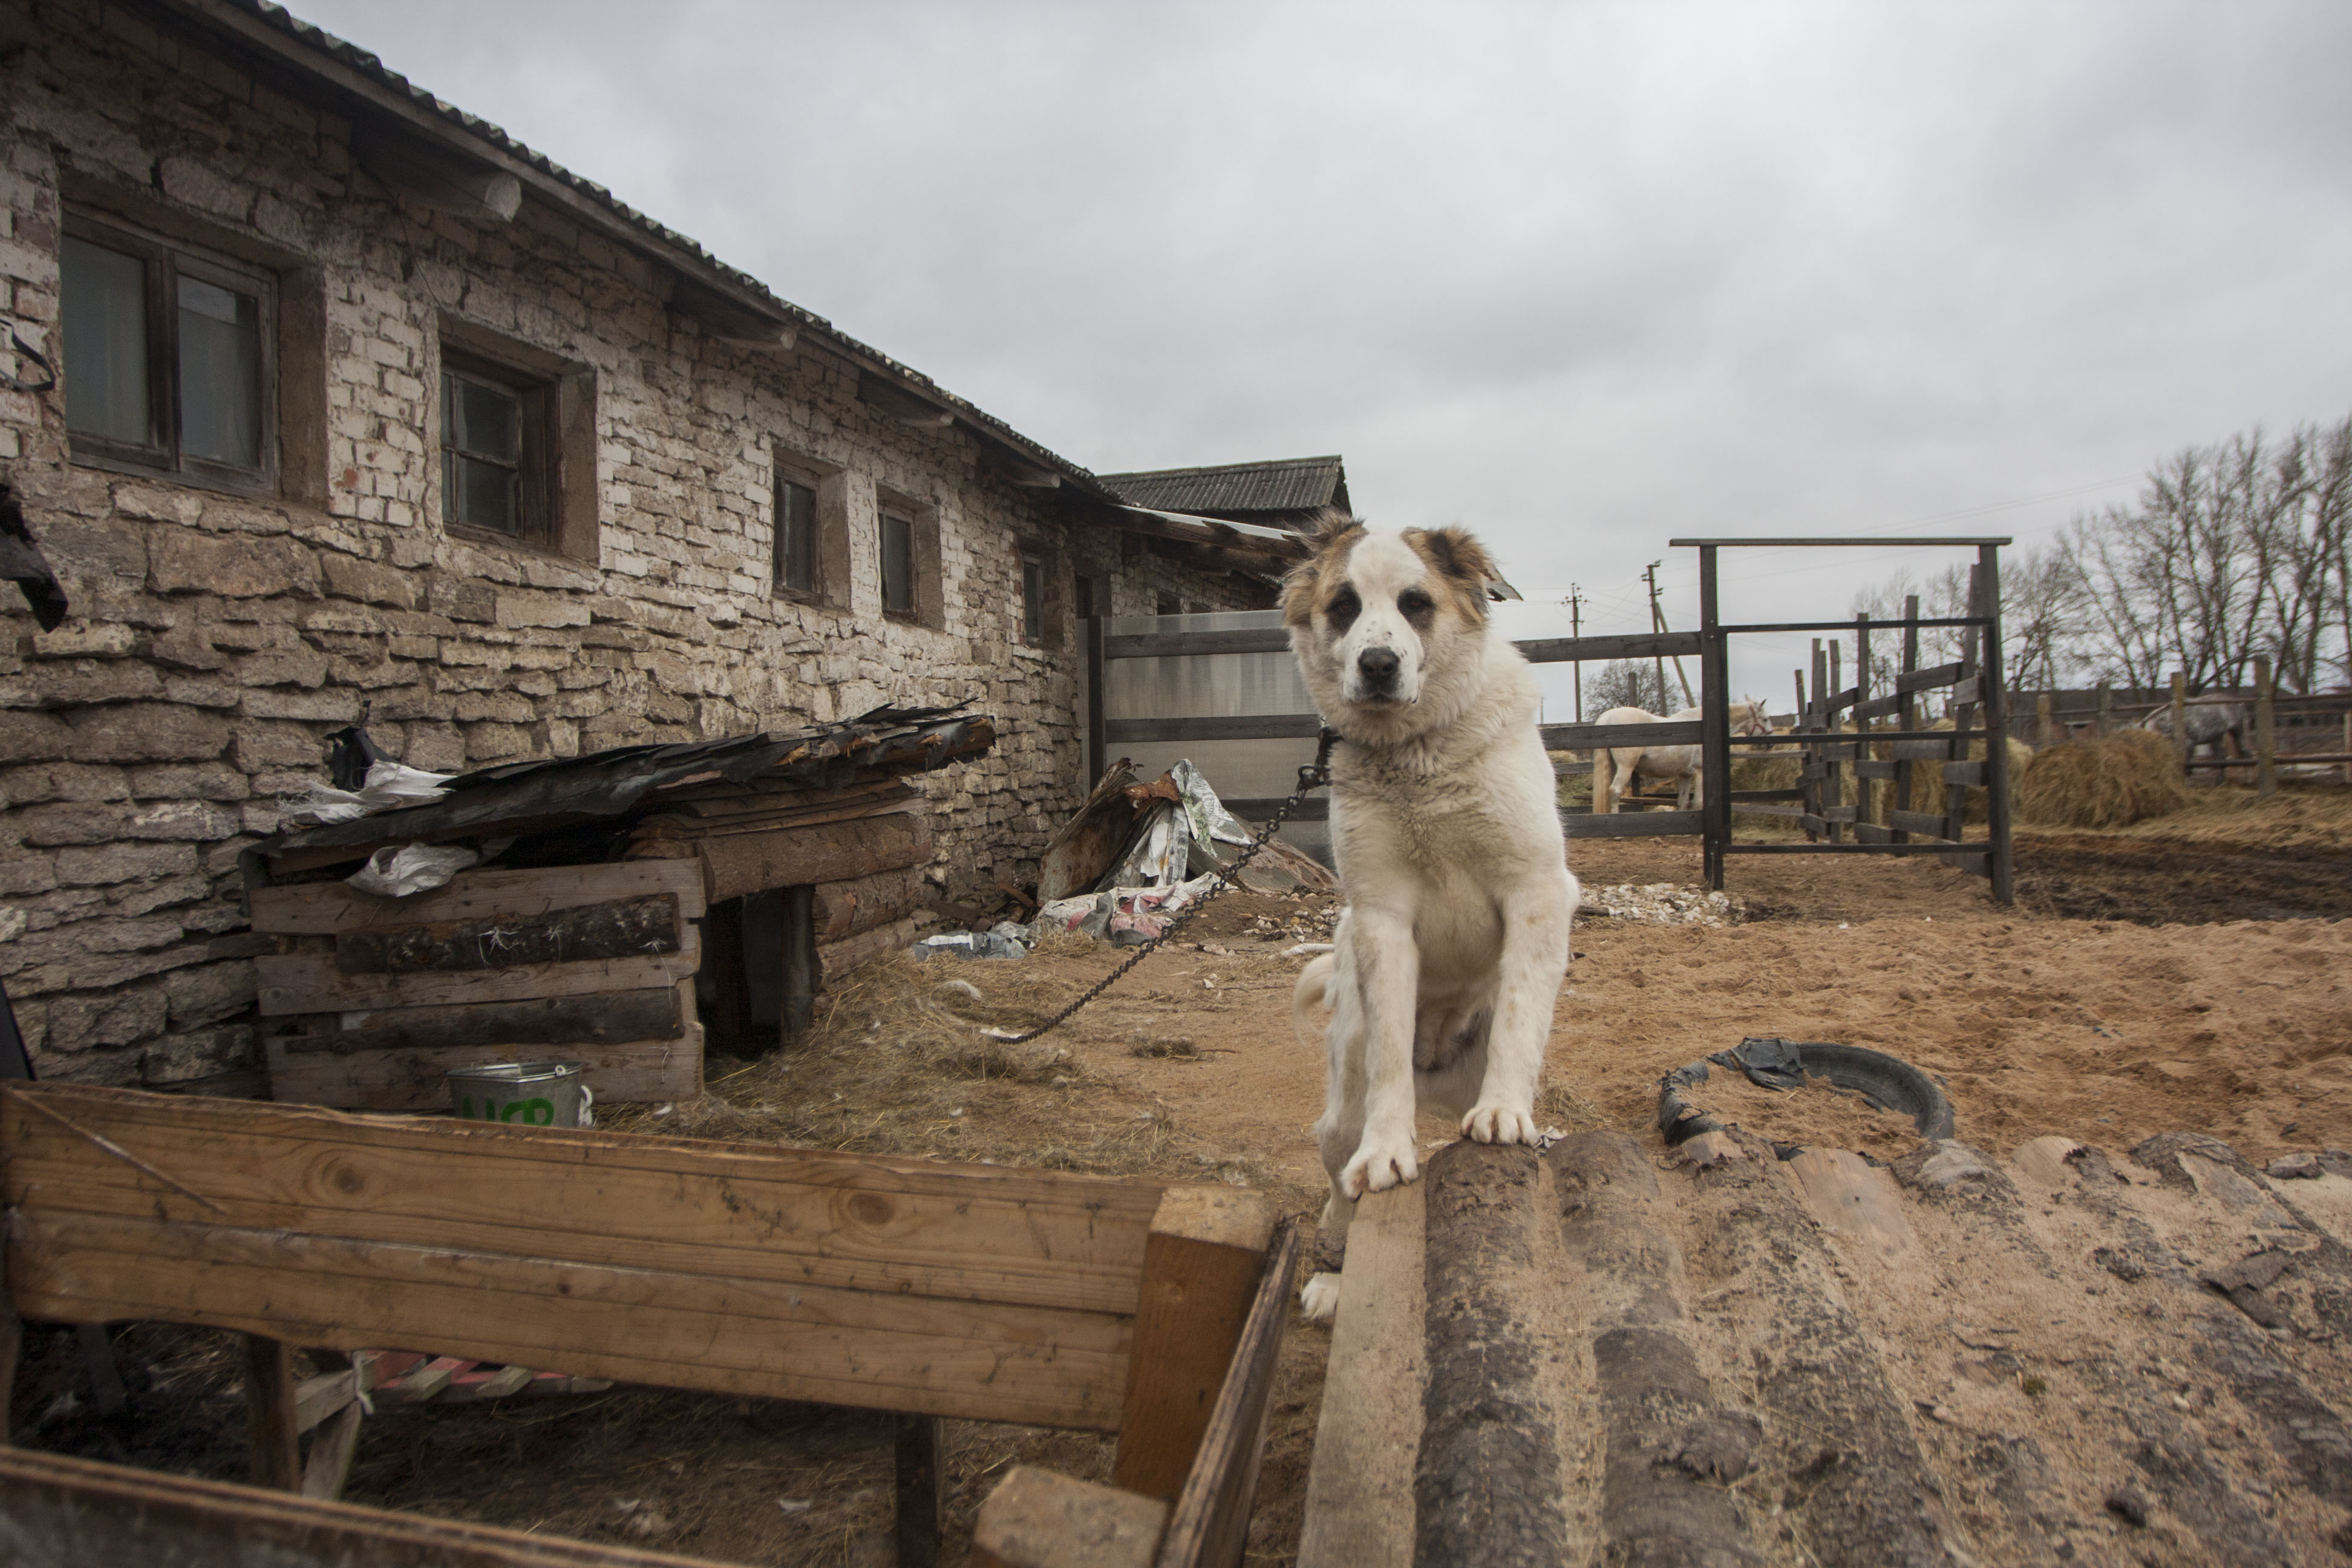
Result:
[[[687,980],[684,985],[691,985]],[[675,1006],[675,1004],[673,1004]],[[332,1105],[336,1110],[449,1110],[452,1067],[553,1058],[581,1063],[581,1079],[597,1105],[661,1105],[703,1093],[703,1030],[689,1023],[675,1039],[597,1041],[499,1041],[414,1051],[336,1053],[296,1048],[318,1034],[270,1034],[261,1056],[270,1074],[270,1098],[280,1105]]]

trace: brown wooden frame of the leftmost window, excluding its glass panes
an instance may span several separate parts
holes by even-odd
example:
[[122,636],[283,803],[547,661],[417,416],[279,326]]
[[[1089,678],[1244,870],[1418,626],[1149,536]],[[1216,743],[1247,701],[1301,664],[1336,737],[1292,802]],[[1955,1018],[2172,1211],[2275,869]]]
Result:
[[[183,240],[167,240],[143,228],[132,228],[118,219],[96,219],[75,207],[66,209],[64,233],[73,240],[136,256],[146,266],[146,327],[148,327],[148,428],[155,442],[122,442],[87,430],[66,430],[66,447],[78,468],[101,468],[108,473],[132,473],[176,480],[198,489],[216,489],[233,496],[278,494],[278,275],[216,252],[198,249]],[[66,256],[59,247],[59,294],[64,294]],[[254,296],[254,353],[259,357],[256,418],[259,463],[242,468],[216,458],[191,456],[181,449],[181,402],[179,402],[179,277],[195,277],[221,289]],[[59,310],[64,320],[64,308]]]

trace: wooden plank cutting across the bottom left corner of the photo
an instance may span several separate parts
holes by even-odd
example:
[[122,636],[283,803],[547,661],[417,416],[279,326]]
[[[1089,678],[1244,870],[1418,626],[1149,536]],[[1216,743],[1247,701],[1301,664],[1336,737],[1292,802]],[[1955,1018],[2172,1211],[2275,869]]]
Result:
[[21,1448],[0,1448],[0,1519],[21,1568],[708,1568]]

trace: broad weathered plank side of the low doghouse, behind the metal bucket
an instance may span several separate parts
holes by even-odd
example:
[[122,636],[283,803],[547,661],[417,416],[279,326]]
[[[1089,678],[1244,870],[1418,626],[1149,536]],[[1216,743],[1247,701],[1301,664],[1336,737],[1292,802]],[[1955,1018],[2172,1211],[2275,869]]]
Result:
[[341,882],[254,889],[275,1100],[449,1103],[449,1067],[564,1058],[600,1100],[689,1100],[703,877],[694,860],[459,872],[412,898]]

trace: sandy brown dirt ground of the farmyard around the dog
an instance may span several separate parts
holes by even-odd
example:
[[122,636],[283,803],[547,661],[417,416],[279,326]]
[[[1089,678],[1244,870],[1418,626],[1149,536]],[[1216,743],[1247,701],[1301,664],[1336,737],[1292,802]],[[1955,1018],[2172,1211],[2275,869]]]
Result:
[[[1578,842],[1571,860],[1595,886],[1698,879],[1696,844],[1677,839]],[[1743,856],[1729,891],[1745,924],[1578,922],[1541,1103],[1552,1126],[1653,1140],[1661,1074],[1783,1034],[1919,1065],[1947,1084],[1957,1135],[1997,1152],[2039,1133],[2124,1150],[2173,1128],[2253,1159],[2352,1147],[2352,792],[2216,790],[2114,835],[2025,832],[2013,910],[1926,860]],[[978,1025],[1042,1018],[1115,954],[1058,940],[1023,961],[891,959],[833,999],[811,1044],[713,1063],[701,1103],[621,1107],[612,1124],[1249,1182],[1312,1213],[1322,1063],[1291,1037],[1303,959],[1284,950],[1322,940],[1329,914],[1221,900],[1181,950],[1011,1051]],[[1900,1117],[1828,1088],[1776,1095],[1717,1072],[1698,1100],[1776,1140],[1877,1159],[1915,1143]],[[24,1441],[240,1474],[226,1345],[146,1326],[118,1345],[132,1410],[108,1420],[73,1403],[71,1335],[33,1338]],[[1251,1563],[1291,1561],[1327,1345],[1291,1326]],[[948,1443],[953,1552],[1009,1462],[1108,1479],[1103,1439],[955,1422]],[[720,1561],[884,1563],[889,1425],[652,1389],[400,1410],[367,1422],[348,1495]]]

